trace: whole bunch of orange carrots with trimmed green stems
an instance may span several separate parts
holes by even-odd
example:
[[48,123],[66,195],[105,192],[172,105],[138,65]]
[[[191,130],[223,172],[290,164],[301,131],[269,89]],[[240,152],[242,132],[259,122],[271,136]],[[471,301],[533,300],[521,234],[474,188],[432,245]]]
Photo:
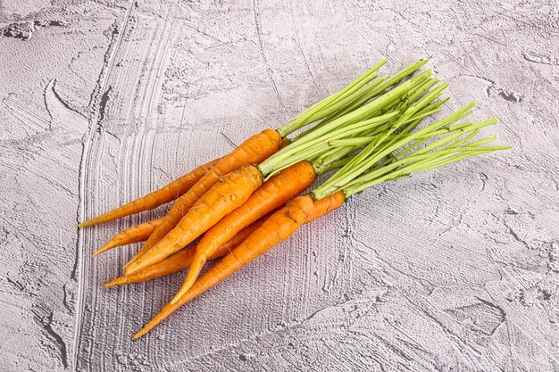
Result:
[[[430,70],[418,72],[426,61],[380,76],[385,62],[283,127],[265,129],[231,153],[79,225],[88,227],[175,201],[161,219],[129,227],[93,253],[146,242],[124,265],[124,275],[109,280],[106,287],[188,269],[178,293],[135,338],[354,194],[416,171],[509,148],[488,145],[496,136],[473,140],[481,128],[496,123],[462,121],[475,103],[420,128],[446,103],[447,98],[441,98],[446,84]],[[296,131],[298,135],[289,139]],[[300,195],[327,172],[330,178]],[[207,260],[219,258],[200,275]]]

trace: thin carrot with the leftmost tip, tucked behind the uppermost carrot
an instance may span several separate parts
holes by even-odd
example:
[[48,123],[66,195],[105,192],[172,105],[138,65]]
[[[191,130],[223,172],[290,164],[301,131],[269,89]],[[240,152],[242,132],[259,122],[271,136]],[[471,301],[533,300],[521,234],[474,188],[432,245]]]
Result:
[[181,178],[175,179],[170,184],[163,186],[159,190],[146,194],[146,196],[142,196],[141,198],[138,198],[128,204],[124,204],[113,211],[108,211],[95,219],[89,219],[86,222],[82,222],[78,225],[78,227],[88,227],[112,221],[113,219],[121,219],[122,217],[129,216],[130,214],[139,213],[141,211],[150,211],[160,205],[163,205],[164,203],[169,203],[172,200],[177,199],[180,195],[186,193],[188,189],[196,184],[196,182],[202,178],[208,170],[212,169],[218,161],[220,161],[220,159],[207,162],[191,172],[188,172]]

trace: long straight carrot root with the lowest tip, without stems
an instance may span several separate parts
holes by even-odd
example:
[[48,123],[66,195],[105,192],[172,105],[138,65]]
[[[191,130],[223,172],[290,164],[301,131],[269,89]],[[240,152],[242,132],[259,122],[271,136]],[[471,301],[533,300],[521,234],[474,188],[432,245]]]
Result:
[[232,252],[209,269],[204,276],[198,278],[196,283],[182,296],[179,302],[168,303],[163,310],[146,324],[134,338],[138,339],[145,335],[150,329],[167,318],[171,312],[177,310],[183,304],[189,302],[200,293],[204,293],[213,285],[218,284],[224,278],[229,277],[248,262],[267,252],[275,244],[291,236],[297,228],[305,223],[305,219],[313,213],[313,199],[310,195],[296,197],[293,201],[280,211],[273,213],[261,227],[239,244]]

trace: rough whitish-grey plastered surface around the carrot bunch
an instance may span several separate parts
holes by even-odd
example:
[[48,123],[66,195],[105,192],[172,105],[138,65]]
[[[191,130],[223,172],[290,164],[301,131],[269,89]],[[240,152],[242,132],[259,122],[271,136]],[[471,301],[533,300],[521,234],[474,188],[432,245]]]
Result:
[[[0,0],[3,371],[559,369],[555,0]],[[513,151],[376,187],[132,342],[181,276],[104,290],[163,210],[76,223],[427,57]],[[136,247],[134,247],[136,248]]]

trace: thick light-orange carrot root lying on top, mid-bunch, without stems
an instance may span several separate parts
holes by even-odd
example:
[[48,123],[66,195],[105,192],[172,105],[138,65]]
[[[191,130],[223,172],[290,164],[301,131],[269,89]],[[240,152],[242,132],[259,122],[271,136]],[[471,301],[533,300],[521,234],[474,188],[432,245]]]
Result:
[[245,203],[262,183],[263,176],[254,165],[244,165],[222,177],[202,195],[176,227],[125,269],[126,274],[153,265],[190,244],[224,216]]

